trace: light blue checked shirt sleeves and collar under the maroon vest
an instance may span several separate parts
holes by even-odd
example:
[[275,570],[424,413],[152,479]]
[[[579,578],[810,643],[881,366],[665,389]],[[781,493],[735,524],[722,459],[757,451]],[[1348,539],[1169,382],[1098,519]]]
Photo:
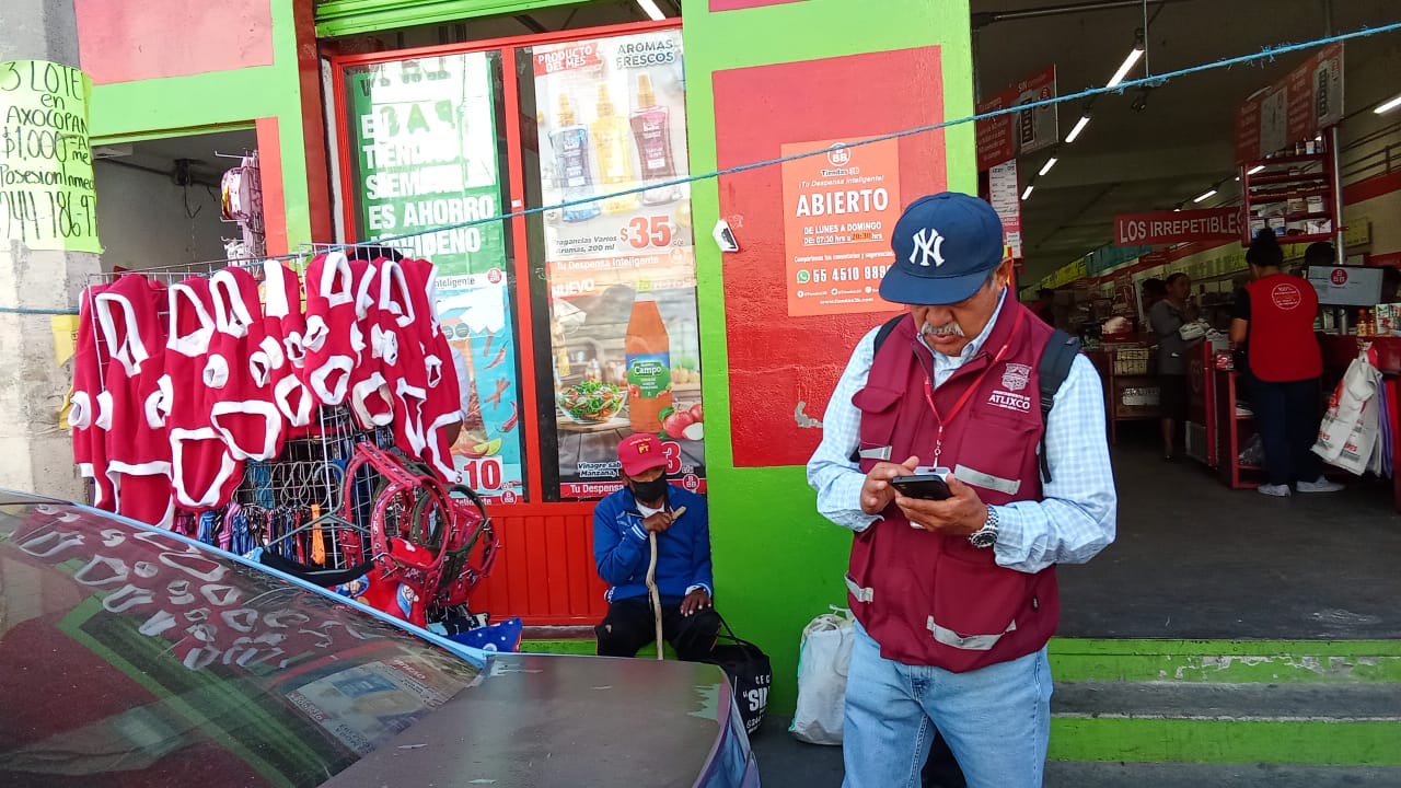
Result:
[[[934,388],[978,353],[1005,300],[1006,290],[982,334],[968,342],[958,358],[934,353]],[[818,513],[853,531],[863,531],[881,519],[862,512],[866,474],[852,461],[862,423],[862,411],[852,404],[852,395],[866,387],[877,331],[871,330],[852,352],[822,416],[822,443],[807,463],[807,482],[817,491]],[[998,543],[993,552],[1000,566],[1040,572],[1052,564],[1084,564],[1114,541],[1118,494],[1110,470],[1104,391],[1094,365],[1083,355],[1076,356],[1056,391],[1047,416],[1045,451],[1051,481],[1042,487],[1044,499],[995,508]],[[904,461],[905,457],[891,460]]]

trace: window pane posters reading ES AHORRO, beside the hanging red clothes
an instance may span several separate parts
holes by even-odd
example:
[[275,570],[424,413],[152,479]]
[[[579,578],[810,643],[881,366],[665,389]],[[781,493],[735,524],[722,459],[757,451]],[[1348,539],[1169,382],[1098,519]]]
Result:
[[[475,52],[346,69],[360,238],[500,215],[489,57]],[[465,365],[467,418],[453,444],[454,464],[476,492],[514,503],[524,494],[524,474],[503,223],[425,233],[392,245],[437,268],[439,321],[457,351],[454,366]]]

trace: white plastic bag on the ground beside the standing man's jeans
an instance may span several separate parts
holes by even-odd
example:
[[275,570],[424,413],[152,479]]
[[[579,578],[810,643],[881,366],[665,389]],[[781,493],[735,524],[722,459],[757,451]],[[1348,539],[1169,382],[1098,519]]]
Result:
[[810,745],[841,745],[846,714],[846,669],[856,639],[852,611],[832,607],[803,630],[797,663],[797,709],[793,733]]

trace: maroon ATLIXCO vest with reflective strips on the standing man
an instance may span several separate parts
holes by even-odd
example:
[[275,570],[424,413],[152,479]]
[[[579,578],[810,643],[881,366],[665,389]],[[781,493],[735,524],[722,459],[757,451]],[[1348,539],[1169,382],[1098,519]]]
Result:
[[[933,405],[948,419],[939,464],[984,503],[1041,499],[1038,365],[1052,332],[1007,299],[978,353],[933,391]],[[863,473],[881,458],[918,456],[933,464],[940,425],[925,397],[933,363],[912,318],[876,352],[866,387],[852,397],[862,411]],[[846,575],[852,611],[881,656],[965,672],[1028,655],[1051,639],[1061,616],[1054,566],[1034,575],[1006,569],[993,548],[911,527],[894,503],[881,515],[856,534]]]

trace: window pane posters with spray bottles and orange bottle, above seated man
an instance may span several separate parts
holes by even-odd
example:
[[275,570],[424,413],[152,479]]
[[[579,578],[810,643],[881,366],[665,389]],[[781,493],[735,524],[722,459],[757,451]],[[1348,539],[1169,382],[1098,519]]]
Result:
[[[657,435],[705,487],[681,31],[534,49],[562,498],[616,489]],[[549,429],[551,425],[542,425]]]

